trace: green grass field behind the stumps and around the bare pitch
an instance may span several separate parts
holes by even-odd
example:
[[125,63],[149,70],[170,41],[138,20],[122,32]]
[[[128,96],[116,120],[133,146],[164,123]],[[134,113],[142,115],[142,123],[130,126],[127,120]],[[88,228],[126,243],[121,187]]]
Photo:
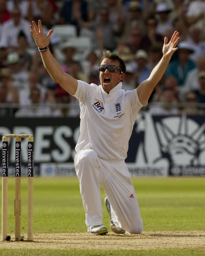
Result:
[[[190,231],[190,233],[193,231],[205,231],[204,177],[135,177],[132,180],[144,222],[144,232],[152,232],[154,234],[155,232],[172,231],[172,234],[173,232],[177,234],[179,231]],[[26,234],[27,179],[22,178],[21,184],[21,233]],[[14,234],[14,191],[14,178],[10,178],[8,234]],[[103,190],[101,195],[103,202],[105,196]],[[109,227],[108,214],[105,207],[103,207],[103,210],[104,225]],[[86,233],[85,213],[82,207],[77,178],[35,178],[33,216],[34,234]],[[110,227],[108,231],[111,233]],[[99,236],[95,237],[92,236],[92,239],[99,239]],[[199,235],[199,238],[201,238],[201,235]],[[102,241],[103,239],[104,237],[101,237]],[[124,238],[122,237],[122,239]],[[133,241],[133,237],[130,237],[130,239]],[[203,236],[203,239],[205,241],[205,236]],[[69,250],[69,248],[63,250],[58,248],[11,249],[12,246],[10,249],[6,249],[8,244],[15,245],[19,243],[25,244],[27,242],[1,242],[0,255],[205,255],[205,243],[200,248],[196,247],[187,250],[180,249],[180,246],[179,249],[176,247],[169,250],[160,248],[123,250],[122,248],[120,251]]]

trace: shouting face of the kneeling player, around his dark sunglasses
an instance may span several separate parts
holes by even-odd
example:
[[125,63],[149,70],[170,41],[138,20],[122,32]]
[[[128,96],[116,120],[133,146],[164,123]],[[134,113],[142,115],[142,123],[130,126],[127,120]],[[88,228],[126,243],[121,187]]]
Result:
[[[105,58],[100,65],[114,65],[120,68],[118,61],[115,62],[108,58]],[[100,83],[103,90],[106,91],[106,93],[109,93],[110,90],[123,80],[124,76],[125,74],[120,73],[120,71],[117,71],[116,73],[112,73],[108,69],[106,69],[105,72],[100,71]]]

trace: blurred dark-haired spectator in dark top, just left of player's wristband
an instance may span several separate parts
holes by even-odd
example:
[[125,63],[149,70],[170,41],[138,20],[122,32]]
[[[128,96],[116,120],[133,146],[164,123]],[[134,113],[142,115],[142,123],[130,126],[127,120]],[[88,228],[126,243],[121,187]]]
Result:
[[23,31],[18,35],[17,53],[20,58],[20,66],[25,70],[30,70],[32,66],[32,55],[27,51],[28,41]]

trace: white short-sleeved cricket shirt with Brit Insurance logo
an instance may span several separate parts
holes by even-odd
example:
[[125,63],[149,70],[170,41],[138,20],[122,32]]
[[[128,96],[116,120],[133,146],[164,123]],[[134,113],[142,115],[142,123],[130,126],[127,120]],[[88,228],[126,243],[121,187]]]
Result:
[[139,109],[137,89],[122,90],[122,82],[107,94],[101,85],[78,81],[73,95],[80,101],[80,137],[75,150],[91,148],[105,160],[124,160]]

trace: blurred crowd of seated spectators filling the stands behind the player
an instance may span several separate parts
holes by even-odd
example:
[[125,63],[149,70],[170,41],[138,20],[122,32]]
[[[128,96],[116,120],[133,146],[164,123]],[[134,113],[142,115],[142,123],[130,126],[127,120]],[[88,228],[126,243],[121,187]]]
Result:
[[78,100],[52,81],[31,36],[39,19],[45,33],[54,30],[50,50],[64,72],[99,85],[100,59],[111,50],[126,63],[124,90],[149,77],[164,37],[179,31],[179,50],[147,111],[204,113],[197,103],[205,103],[205,0],[0,0],[0,105],[19,104],[15,117],[76,117]]

